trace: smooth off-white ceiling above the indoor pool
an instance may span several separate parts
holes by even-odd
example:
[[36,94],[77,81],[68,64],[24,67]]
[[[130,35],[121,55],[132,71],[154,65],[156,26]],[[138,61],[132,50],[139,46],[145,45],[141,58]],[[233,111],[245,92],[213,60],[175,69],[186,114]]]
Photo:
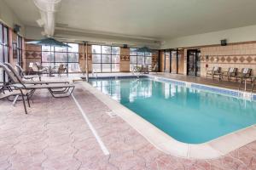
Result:
[[[26,26],[37,26],[32,0],[5,2]],[[166,40],[254,25],[255,7],[256,0],[62,0],[55,22],[59,30]]]

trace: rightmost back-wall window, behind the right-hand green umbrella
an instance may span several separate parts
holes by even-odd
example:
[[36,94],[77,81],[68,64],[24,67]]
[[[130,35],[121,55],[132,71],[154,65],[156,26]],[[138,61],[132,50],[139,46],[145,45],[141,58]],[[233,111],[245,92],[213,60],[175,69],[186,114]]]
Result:
[[152,65],[152,53],[137,52],[138,48],[130,48],[130,71],[133,68],[142,67],[148,65],[148,68]]

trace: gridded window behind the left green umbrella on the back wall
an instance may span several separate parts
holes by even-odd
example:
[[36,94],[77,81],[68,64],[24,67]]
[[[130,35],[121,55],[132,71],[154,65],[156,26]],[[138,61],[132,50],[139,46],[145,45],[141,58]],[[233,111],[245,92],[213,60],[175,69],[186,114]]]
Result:
[[44,66],[67,67],[68,72],[78,72],[79,69],[79,44],[67,43],[71,48],[58,48],[42,46],[42,64]]

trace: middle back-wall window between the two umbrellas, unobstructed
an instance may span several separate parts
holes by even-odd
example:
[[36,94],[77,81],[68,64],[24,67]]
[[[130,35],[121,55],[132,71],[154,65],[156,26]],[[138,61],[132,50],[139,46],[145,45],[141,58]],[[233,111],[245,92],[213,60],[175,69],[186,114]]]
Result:
[[120,48],[92,45],[92,69],[96,72],[117,72],[120,65]]

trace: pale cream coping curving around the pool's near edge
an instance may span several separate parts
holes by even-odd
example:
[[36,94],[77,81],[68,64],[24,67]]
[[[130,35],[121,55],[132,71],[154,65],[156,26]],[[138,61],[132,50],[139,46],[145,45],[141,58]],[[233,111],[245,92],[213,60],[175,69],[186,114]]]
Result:
[[[162,78],[162,77],[161,77]],[[168,79],[168,78],[165,78]],[[177,81],[175,79],[171,79]],[[183,81],[178,81],[183,82]],[[199,84],[201,85],[201,84]],[[135,112],[129,110],[118,101],[112,99],[107,94],[102,94],[97,88],[94,88],[90,83],[83,83],[85,89],[100,99],[102,103],[107,105],[116,115],[121,117],[131,127],[137,130],[150,144],[153,144],[157,149],[171,154],[189,159],[213,159],[220,156],[225,156],[230,151],[236,150],[241,146],[249,144],[256,140],[256,125],[239,129],[233,133],[225,134],[224,136],[212,139],[209,142],[202,144],[186,144],[173,139],[168,134],[154,127],[150,122],[138,116]],[[215,87],[214,87],[215,88]],[[155,138],[155,137],[158,138]]]

